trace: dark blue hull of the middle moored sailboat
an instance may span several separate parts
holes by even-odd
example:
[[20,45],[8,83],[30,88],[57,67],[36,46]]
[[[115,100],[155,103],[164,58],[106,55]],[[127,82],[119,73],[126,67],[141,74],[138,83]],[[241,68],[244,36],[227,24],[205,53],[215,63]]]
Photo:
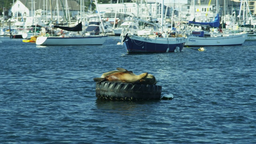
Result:
[[159,38],[126,36],[124,46],[128,53],[137,52],[181,52],[186,38]]

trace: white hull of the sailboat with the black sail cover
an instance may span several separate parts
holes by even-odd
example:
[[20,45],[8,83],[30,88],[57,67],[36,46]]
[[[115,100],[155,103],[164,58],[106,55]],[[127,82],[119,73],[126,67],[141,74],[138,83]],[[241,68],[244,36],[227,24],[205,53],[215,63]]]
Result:
[[47,45],[102,45],[108,36],[85,36],[85,37],[46,37],[36,38],[36,44]]

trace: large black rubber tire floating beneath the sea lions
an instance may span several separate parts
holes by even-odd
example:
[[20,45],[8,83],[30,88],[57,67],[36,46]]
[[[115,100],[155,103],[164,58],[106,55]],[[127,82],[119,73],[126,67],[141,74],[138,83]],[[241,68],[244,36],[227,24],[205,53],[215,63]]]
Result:
[[96,83],[96,97],[106,100],[160,100],[162,86],[104,81]]

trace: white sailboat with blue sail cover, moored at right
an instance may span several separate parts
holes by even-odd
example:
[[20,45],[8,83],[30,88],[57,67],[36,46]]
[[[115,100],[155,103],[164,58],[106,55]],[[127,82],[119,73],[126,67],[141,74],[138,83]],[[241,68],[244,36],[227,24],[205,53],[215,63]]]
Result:
[[[218,7],[218,0],[217,7]],[[212,22],[188,21],[192,26],[188,33],[186,46],[239,46],[244,43],[248,33],[246,31],[227,31],[220,26],[220,16],[217,14]],[[194,26],[201,26],[201,30],[194,30]],[[204,28],[206,27],[206,28]]]

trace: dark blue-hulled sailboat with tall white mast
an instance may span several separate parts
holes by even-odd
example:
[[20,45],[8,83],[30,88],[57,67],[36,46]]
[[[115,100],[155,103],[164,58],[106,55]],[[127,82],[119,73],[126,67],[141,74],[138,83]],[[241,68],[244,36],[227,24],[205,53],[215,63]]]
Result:
[[152,35],[135,36],[132,33],[127,33],[122,36],[122,44],[124,44],[128,53],[140,52],[181,52],[186,42],[186,36],[174,32],[164,32],[163,30],[163,12],[164,0],[162,0],[161,10],[161,28],[160,32]]

